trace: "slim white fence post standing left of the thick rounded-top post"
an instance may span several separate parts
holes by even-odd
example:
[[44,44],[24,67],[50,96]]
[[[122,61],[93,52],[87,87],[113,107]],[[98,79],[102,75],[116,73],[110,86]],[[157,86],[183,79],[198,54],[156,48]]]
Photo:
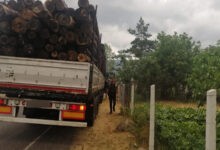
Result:
[[154,128],[155,128],[155,85],[151,85],[149,150],[154,150],[154,136],[155,136]]

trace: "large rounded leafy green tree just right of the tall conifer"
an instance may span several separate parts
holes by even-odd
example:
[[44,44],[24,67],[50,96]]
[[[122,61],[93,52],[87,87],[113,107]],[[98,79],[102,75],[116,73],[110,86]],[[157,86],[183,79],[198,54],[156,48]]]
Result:
[[192,58],[199,52],[200,43],[195,43],[186,33],[157,36],[155,57],[160,66],[159,87],[162,97],[184,94],[186,78],[191,73]]

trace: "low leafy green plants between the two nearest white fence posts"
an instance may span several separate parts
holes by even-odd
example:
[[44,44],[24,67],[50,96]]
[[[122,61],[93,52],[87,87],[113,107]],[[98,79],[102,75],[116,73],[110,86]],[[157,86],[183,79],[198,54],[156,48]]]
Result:
[[169,150],[205,149],[205,109],[157,107],[156,139]]

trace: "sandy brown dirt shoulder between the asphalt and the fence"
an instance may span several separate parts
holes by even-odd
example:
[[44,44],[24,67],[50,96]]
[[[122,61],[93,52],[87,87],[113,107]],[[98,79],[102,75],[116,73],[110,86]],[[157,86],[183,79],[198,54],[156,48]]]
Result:
[[129,150],[134,143],[134,136],[129,132],[116,131],[123,119],[119,115],[120,104],[116,112],[109,114],[109,101],[106,99],[99,107],[99,114],[91,128],[80,129],[73,141],[71,150]]

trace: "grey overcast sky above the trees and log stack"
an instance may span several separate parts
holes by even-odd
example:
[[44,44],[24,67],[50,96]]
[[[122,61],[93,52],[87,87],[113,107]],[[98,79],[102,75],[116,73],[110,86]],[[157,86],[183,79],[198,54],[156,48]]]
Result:
[[[70,0],[68,0],[70,1]],[[71,0],[76,8],[78,0]],[[98,5],[98,21],[103,42],[116,52],[133,40],[128,28],[135,28],[140,17],[150,24],[156,37],[165,31],[186,32],[203,46],[220,39],[220,0],[90,0]]]

